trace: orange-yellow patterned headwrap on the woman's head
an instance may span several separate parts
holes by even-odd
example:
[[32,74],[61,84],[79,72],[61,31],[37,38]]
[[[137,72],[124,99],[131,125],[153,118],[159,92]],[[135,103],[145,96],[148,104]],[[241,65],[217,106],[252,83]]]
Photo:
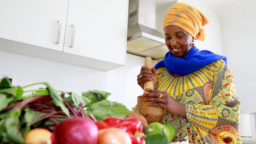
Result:
[[177,3],[165,14],[163,30],[166,26],[176,25],[187,31],[195,39],[204,41],[205,32],[202,26],[208,22],[208,18],[195,7],[185,3]]

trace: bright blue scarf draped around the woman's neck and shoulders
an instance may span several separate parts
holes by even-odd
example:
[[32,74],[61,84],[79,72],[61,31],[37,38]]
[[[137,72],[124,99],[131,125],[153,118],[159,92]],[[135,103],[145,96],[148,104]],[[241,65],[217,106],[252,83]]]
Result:
[[222,55],[214,54],[209,50],[201,50],[199,52],[196,47],[191,47],[187,55],[182,58],[174,57],[171,52],[167,52],[163,61],[157,63],[154,68],[157,70],[165,66],[168,72],[183,76],[219,59],[223,59],[227,63],[226,57]]

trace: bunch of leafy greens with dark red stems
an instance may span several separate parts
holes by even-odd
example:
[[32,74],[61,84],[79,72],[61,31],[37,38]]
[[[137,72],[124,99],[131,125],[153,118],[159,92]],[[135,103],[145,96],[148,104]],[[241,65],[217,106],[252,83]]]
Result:
[[[45,88],[27,90],[34,85],[45,85]],[[24,144],[30,129],[43,128],[53,132],[60,122],[70,118],[89,119],[94,124],[94,121],[109,116],[124,118],[131,112],[121,103],[106,100],[109,95],[108,92],[89,90],[80,96],[55,90],[47,82],[14,87],[4,78],[0,81],[0,143]]]

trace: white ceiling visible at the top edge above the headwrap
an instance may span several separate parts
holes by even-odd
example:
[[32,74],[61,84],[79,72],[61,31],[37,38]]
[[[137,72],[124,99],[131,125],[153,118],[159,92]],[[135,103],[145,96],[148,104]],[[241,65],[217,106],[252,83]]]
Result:
[[[165,6],[165,4],[168,4],[170,2],[174,2],[177,0],[156,0],[156,5],[158,7]],[[209,7],[212,7],[213,9],[219,9],[224,6],[228,6],[236,1],[239,0],[197,0],[198,2],[201,2],[202,4],[205,4]]]

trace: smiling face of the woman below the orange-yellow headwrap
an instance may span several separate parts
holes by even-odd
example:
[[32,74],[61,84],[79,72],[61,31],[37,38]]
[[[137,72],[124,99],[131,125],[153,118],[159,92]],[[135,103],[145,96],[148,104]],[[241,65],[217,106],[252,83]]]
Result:
[[175,57],[184,57],[194,38],[179,26],[165,27],[165,45]]

